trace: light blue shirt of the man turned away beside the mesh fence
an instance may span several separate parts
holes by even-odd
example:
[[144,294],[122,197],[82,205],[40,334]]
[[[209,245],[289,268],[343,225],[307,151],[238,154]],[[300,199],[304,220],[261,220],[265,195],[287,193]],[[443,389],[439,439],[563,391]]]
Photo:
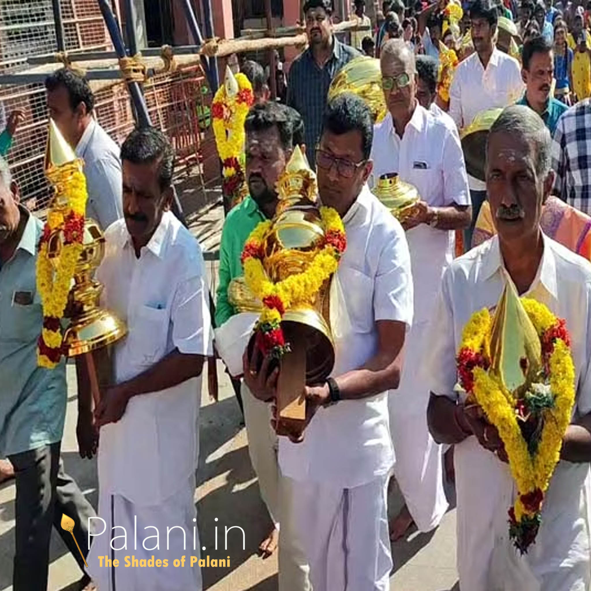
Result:
[[76,146],[77,157],[84,160],[86,217],[92,217],[103,230],[123,217],[120,152],[94,119]]

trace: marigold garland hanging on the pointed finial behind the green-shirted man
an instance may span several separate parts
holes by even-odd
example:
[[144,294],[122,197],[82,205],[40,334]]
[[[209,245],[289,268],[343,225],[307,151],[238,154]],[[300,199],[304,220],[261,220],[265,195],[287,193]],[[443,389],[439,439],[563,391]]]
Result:
[[217,153],[222,160],[223,193],[232,198],[232,205],[239,203],[246,194],[244,178],[244,122],[254,103],[254,94],[248,78],[236,74],[238,93],[230,97],[226,86],[221,85],[213,98],[213,134]]

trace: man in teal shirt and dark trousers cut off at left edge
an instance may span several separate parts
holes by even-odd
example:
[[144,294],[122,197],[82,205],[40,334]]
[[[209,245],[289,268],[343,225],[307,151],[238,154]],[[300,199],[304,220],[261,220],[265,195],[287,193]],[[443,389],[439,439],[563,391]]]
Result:
[[[15,591],[47,588],[52,525],[82,563],[72,535],[60,527],[61,514],[74,519],[85,556],[87,518],[95,515],[60,463],[65,362],[55,369],[37,365],[43,310],[35,265],[42,232],[43,223],[19,204],[17,184],[0,158],[0,457],[11,460],[17,479]],[[80,588],[89,583],[85,575]]]

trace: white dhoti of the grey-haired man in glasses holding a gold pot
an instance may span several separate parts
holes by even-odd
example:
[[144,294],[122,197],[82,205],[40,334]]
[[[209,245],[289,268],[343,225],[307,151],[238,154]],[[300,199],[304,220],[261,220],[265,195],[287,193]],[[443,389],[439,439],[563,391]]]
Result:
[[427,427],[429,387],[421,369],[427,328],[428,323],[421,322],[408,333],[400,387],[388,397],[394,476],[419,531],[436,528],[448,506],[443,450]]

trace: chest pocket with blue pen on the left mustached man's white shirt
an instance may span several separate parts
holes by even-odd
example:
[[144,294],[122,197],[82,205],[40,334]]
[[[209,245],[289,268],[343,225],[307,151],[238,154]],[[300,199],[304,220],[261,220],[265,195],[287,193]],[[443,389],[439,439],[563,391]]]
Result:
[[150,366],[160,361],[168,340],[168,310],[139,306],[127,338],[128,350],[136,365]]

